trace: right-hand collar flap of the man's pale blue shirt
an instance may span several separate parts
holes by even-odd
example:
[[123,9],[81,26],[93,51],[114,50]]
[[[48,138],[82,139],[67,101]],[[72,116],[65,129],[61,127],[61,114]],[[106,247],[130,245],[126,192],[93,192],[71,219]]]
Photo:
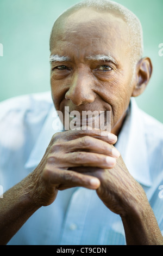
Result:
[[143,123],[142,111],[137,107],[135,99],[131,98],[130,111],[118,136],[116,148],[135,180],[145,186],[151,186],[146,130]]

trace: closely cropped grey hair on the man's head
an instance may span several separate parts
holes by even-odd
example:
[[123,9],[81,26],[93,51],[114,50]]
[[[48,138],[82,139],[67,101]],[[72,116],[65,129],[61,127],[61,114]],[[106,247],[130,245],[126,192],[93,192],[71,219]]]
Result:
[[[86,9],[87,11],[89,11],[89,16],[87,16],[87,12],[85,13]],[[80,16],[78,15],[79,11]],[[83,11],[82,15],[81,11]],[[54,23],[50,39],[50,49],[52,48],[54,41],[58,38],[61,30],[66,29],[66,23],[67,20],[70,20],[70,17],[71,20],[73,20],[73,24],[71,25],[76,26],[78,22],[86,23],[86,21],[88,21],[88,18],[91,19],[92,17],[93,19],[93,15],[95,16],[95,11],[99,14],[108,14],[108,17],[110,14],[114,15],[115,17],[122,19],[126,23],[126,30],[128,30],[129,32],[128,46],[130,50],[131,62],[135,66],[135,64],[140,60],[143,54],[143,33],[141,23],[139,19],[135,16],[135,14],[133,14],[130,10],[123,7],[121,4],[113,1],[88,0],[78,3],[70,9],[66,10],[58,17],[58,19]],[[107,19],[106,15],[104,15],[104,17],[105,19]],[[124,37],[126,36],[127,33],[124,34]]]

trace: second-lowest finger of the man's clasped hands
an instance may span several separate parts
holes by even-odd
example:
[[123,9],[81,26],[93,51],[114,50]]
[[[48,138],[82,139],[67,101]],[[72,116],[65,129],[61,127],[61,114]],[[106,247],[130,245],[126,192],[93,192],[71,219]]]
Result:
[[64,154],[62,157],[60,157],[60,154],[55,154],[55,156],[50,154],[47,163],[52,166],[58,166],[59,168],[70,168],[73,166],[112,168],[116,164],[116,159],[104,154],[78,151]]

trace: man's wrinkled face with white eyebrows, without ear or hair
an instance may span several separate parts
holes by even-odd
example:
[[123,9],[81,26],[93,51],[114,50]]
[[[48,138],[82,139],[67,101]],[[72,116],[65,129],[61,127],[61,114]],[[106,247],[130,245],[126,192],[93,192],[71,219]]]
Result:
[[[55,32],[54,32],[55,33]],[[133,92],[129,32],[112,15],[79,10],[58,25],[51,44],[52,98],[57,110],[111,111],[117,133]]]

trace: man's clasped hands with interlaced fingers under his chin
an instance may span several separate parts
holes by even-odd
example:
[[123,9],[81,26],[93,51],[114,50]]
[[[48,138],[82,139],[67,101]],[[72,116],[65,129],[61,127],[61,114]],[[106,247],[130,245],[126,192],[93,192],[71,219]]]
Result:
[[117,136],[101,130],[68,130],[56,133],[35,169],[37,203],[46,206],[58,190],[95,189],[113,212],[123,215],[129,199],[139,194],[139,184],[129,174],[113,146]]

